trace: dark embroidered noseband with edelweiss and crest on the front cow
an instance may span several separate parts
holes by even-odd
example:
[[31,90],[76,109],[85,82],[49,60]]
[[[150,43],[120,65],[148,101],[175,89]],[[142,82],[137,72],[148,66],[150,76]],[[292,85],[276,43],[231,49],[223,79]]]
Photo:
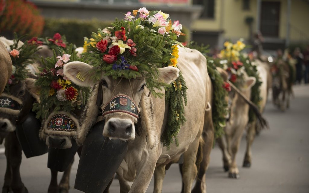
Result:
[[138,108],[133,99],[126,95],[117,95],[106,103],[102,115],[107,115],[115,112],[124,112],[138,119]]

